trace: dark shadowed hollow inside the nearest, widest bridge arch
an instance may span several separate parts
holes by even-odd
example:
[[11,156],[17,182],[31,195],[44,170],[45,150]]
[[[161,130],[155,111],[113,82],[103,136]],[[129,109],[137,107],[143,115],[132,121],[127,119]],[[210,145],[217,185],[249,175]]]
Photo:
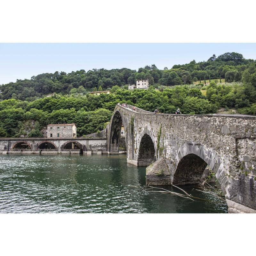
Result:
[[180,159],[173,176],[173,185],[199,184],[203,182],[203,174],[207,163],[195,154],[188,154]]

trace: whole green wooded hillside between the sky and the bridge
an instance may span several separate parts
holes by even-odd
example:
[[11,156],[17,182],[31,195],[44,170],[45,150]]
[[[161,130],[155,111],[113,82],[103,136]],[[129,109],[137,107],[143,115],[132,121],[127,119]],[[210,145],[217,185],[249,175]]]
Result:
[[[126,84],[145,78],[151,84],[148,90],[127,90]],[[204,79],[209,78],[210,84],[204,85]],[[198,83],[193,85],[193,81]],[[111,93],[87,93],[102,89]],[[51,92],[54,96],[43,96]],[[233,52],[164,70],[151,65],[138,72],[93,69],[17,80],[1,86],[0,137],[41,137],[47,124],[63,122],[76,123],[78,136],[97,132],[119,102],[148,111],[159,108],[162,113],[175,113],[180,108],[182,114],[208,114],[233,108],[256,115],[256,62]]]

